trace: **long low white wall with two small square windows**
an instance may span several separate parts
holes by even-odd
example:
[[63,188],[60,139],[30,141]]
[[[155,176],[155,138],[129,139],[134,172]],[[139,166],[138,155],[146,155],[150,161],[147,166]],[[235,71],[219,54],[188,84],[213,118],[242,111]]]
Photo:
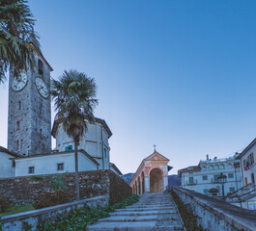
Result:
[[[57,170],[57,164],[64,163],[64,170]],[[35,173],[29,174],[29,167],[35,167]],[[78,153],[78,169],[94,170],[97,166],[84,154]],[[47,156],[30,157],[16,160],[15,176],[40,175],[51,173],[64,173],[74,171],[74,154],[55,154]]]

